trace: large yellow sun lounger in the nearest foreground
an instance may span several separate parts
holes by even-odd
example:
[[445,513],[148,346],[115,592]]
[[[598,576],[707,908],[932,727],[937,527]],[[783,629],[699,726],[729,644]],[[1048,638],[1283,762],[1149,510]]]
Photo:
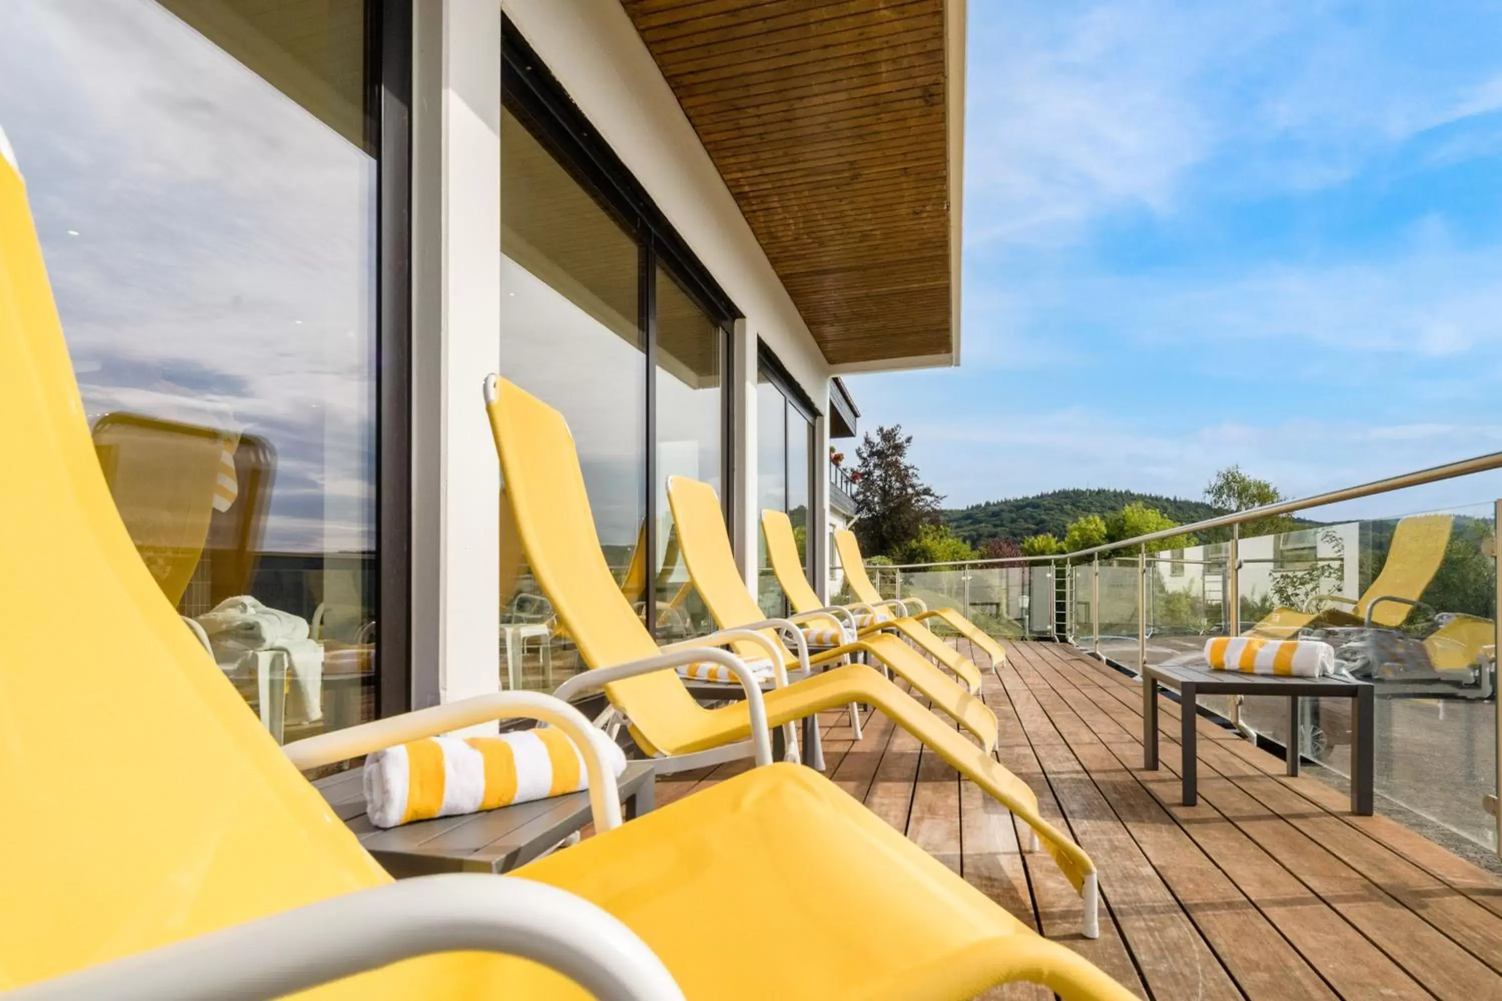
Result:
[[[0,479],[8,998],[897,1001],[1009,980],[1131,996],[805,768],[756,768],[617,828],[587,722],[509,692],[282,753],[183,627],[110,500],[24,189],[3,158],[0,425],[26,429],[0,435],[0,467],[23,473]],[[518,878],[392,882],[290,759],[500,716],[539,716],[581,741],[604,831]],[[790,914],[796,933],[777,933]],[[748,935],[710,947],[703,929]]]

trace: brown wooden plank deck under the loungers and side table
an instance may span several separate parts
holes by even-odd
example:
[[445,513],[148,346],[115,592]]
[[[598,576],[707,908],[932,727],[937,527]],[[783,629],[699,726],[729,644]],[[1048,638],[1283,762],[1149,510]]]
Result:
[[[978,650],[976,663],[988,662]],[[1179,714],[1161,707],[1163,765],[1142,770],[1142,689],[1054,644],[1012,644],[987,669],[997,756],[1101,872],[1101,936],[1009,815],[885,717],[852,743],[826,726],[829,774],[1048,938],[1143,998],[1502,998],[1502,881],[1200,720],[1200,803],[1179,804]],[[658,783],[658,803],[743,764]],[[1045,998],[1029,984],[994,998]]]

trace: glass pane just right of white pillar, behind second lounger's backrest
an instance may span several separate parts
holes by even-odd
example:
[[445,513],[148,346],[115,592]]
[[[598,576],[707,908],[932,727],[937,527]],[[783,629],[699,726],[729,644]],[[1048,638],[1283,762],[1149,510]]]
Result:
[[[500,141],[500,372],[568,419],[605,560],[644,608],[640,248],[509,108]],[[500,609],[506,684],[553,687],[554,671],[577,669],[577,654],[526,567],[511,579]]]

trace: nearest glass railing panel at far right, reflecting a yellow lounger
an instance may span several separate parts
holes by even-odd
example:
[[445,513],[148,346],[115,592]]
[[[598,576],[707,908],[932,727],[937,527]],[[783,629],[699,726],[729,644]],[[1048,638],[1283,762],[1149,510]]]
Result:
[[[1376,686],[1376,791],[1482,845],[1496,822],[1496,525],[1491,504],[1301,527],[1241,543],[1242,629],[1323,639]],[[1379,594],[1398,600],[1377,602]],[[1370,624],[1367,621],[1370,612]],[[1307,699],[1310,773],[1350,776],[1346,699]],[[1287,702],[1248,698],[1242,720],[1286,746]],[[1379,806],[1380,809],[1380,806]],[[1401,810],[1400,810],[1401,815]]]

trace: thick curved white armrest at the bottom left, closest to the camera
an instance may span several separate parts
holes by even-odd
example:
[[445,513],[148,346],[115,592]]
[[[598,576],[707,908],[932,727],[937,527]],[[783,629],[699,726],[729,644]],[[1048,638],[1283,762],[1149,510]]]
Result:
[[401,879],[65,974],[6,1001],[261,1001],[434,953],[521,956],[599,998],[680,1001],[646,942],[593,903],[532,879]]

